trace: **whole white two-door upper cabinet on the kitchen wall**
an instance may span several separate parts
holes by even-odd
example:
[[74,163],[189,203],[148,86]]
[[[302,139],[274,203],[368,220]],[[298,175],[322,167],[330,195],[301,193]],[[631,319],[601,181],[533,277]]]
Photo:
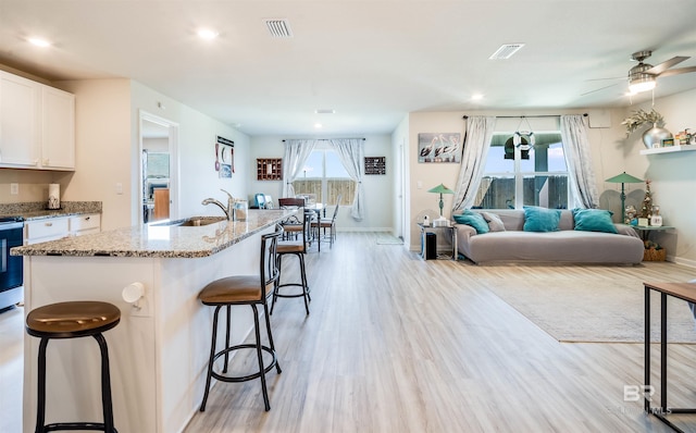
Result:
[[0,166],[75,170],[75,96],[0,71]]

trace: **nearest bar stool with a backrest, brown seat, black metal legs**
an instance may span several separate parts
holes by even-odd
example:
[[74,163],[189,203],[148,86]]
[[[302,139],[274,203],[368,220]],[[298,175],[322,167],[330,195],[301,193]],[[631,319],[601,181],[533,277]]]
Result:
[[[283,227],[281,225],[275,226],[275,232],[261,236],[261,260],[259,275],[234,275],[224,279],[215,280],[208,284],[198,294],[198,299],[203,305],[215,307],[213,313],[213,337],[210,345],[210,359],[208,360],[208,376],[206,378],[206,393],[203,394],[203,401],[200,405],[200,411],[206,411],[206,403],[208,401],[208,394],[210,392],[211,378],[215,378],[222,382],[246,382],[252,379],[261,379],[261,391],[263,393],[263,403],[265,410],[271,410],[269,404],[269,392],[265,386],[265,374],[276,368],[278,374],[281,373],[281,366],[277,363],[275,355],[275,345],[273,344],[273,335],[271,334],[271,320],[269,318],[269,308],[266,298],[269,296],[269,288],[275,285],[278,279],[279,271],[276,267],[276,249],[278,237],[283,234]],[[256,333],[256,344],[238,344],[229,346],[229,327],[231,327],[231,312],[232,306],[251,306],[253,311],[253,330]],[[259,313],[257,306],[263,306],[263,314],[265,316],[265,327],[269,334],[269,346],[261,344],[261,332],[259,330]],[[217,338],[217,317],[220,309],[227,308],[227,332],[225,334],[225,348],[220,351],[215,351],[215,341]],[[223,373],[227,372],[227,361],[229,352],[238,349],[253,348],[257,351],[259,359],[259,371],[243,376],[229,376],[219,374],[213,371],[213,363],[215,360],[224,356]],[[263,366],[263,351],[271,354],[272,360],[268,366]]]

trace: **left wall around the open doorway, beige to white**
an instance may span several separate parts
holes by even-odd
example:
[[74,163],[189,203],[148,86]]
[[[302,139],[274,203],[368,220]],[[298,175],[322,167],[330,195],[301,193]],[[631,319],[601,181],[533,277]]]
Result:
[[[102,201],[103,230],[138,223],[140,110],[178,124],[181,216],[219,214],[219,209],[200,202],[206,197],[224,200],[220,188],[246,194],[248,136],[129,79],[63,82],[62,87],[76,96],[77,137],[76,170],[60,175],[63,199]],[[232,178],[221,180],[214,171],[217,135],[235,141]]]

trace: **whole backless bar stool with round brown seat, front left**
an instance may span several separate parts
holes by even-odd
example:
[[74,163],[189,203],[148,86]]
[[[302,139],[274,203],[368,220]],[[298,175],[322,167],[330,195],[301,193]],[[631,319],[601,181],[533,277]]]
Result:
[[[70,301],[50,304],[32,310],[26,317],[27,334],[41,338],[39,343],[39,370],[36,432],[60,430],[98,430],[116,433],[113,425],[109,351],[101,334],[121,321],[116,306],[100,301]],[[57,422],[46,424],[46,347],[51,338],[94,337],[101,351],[101,407],[103,422]]]

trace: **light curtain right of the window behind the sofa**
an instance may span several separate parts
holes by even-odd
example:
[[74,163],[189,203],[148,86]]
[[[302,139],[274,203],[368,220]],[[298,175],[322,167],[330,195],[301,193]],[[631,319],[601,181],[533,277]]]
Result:
[[575,193],[572,195],[575,202],[571,207],[597,208],[599,194],[589,154],[587,117],[582,114],[561,115],[561,139],[570,185]]

